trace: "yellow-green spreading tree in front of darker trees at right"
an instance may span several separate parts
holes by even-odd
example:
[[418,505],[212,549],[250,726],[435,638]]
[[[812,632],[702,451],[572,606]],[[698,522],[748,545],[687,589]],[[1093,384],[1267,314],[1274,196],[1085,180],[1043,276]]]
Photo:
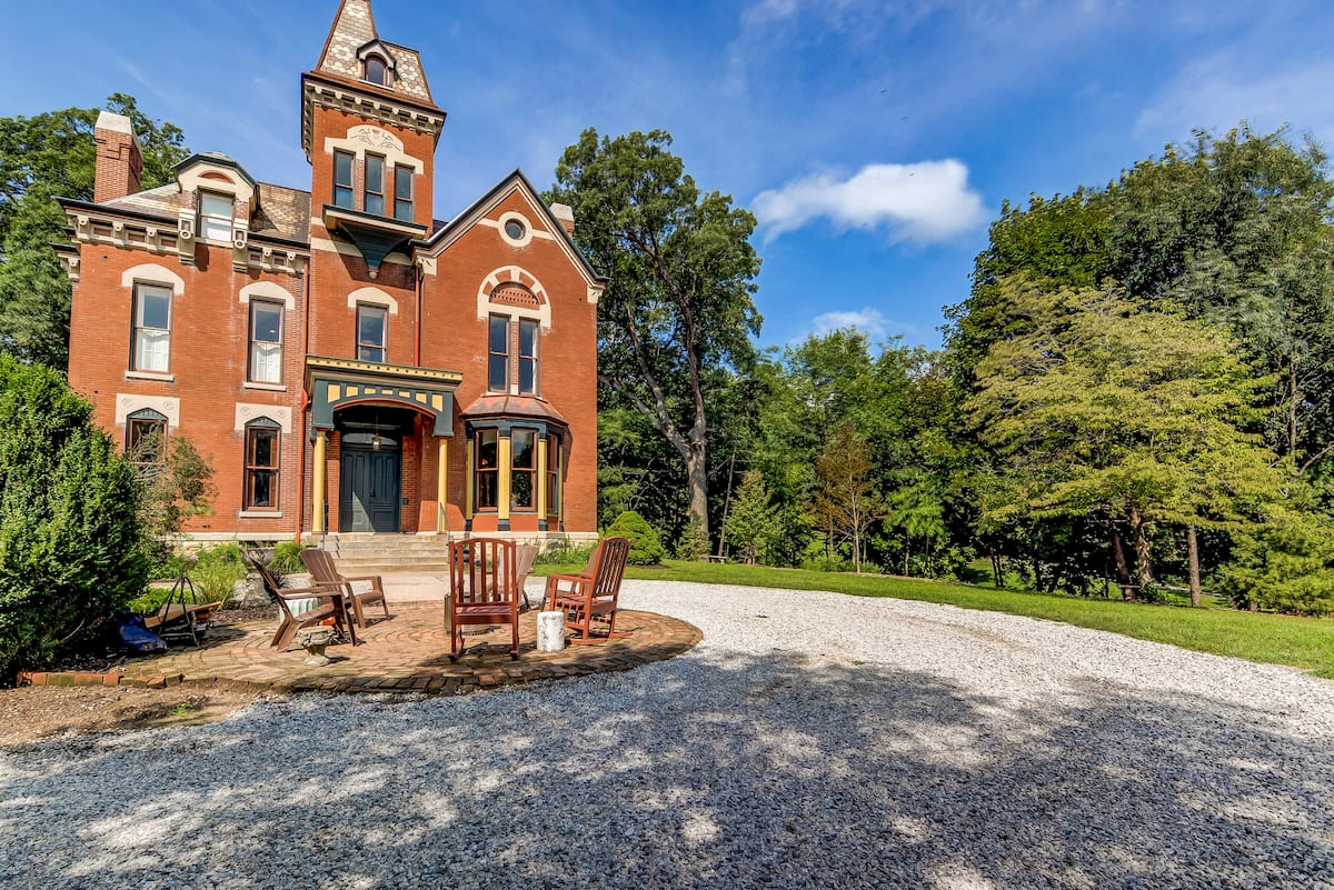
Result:
[[1117,286],[1002,282],[1027,318],[991,344],[966,408],[1002,477],[987,518],[1106,516],[1153,581],[1159,524],[1235,525],[1283,497],[1254,421],[1258,380],[1235,341]]

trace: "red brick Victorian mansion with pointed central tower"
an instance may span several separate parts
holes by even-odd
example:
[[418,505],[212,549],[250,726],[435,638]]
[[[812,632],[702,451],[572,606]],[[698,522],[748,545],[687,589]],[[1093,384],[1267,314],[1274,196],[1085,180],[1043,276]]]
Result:
[[127,449],[209,460],[196,537],[596,532],[603,281],[519,171],[435,219],[444,116],[342,0],[301,75],[308,191],[208,152],[140,191],[129,121],[99,119],[93,201],[61,203],[69,382]]

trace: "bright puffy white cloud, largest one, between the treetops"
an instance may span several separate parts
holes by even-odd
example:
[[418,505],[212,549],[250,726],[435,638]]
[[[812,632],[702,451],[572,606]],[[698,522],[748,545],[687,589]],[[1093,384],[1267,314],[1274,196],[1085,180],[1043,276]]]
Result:
[[868,164],[848,179],[815,173],[755,196],[764,240],[816,219],[854,229],[887,228],[895,241],[944,241],[986,220],[968,188],[968,168],[954,159]]

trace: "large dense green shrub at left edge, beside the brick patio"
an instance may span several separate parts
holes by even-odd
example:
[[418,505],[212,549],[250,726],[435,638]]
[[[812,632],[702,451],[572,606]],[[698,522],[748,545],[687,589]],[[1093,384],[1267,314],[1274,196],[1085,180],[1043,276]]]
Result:
[[60,374],[0,354],[0,673],[91,640],[139,596],[139,492]]

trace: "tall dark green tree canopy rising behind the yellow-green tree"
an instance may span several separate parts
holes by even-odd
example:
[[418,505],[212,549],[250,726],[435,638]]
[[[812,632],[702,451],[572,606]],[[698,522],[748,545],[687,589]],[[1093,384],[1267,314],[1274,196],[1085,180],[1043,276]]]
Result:
[[1089,288],[1113,278],[1147,308],[1226,325],[1269,376],[1266,441],[1293,472],[1331,480],[1331,197],[1318,145],[1242,125],[1169,145],[1105,188],[1006,205],[974,264],[970,297],[947,310],[958,380],[971,386],[992,342],[1031,328],[1007,300],[1006,280]]

